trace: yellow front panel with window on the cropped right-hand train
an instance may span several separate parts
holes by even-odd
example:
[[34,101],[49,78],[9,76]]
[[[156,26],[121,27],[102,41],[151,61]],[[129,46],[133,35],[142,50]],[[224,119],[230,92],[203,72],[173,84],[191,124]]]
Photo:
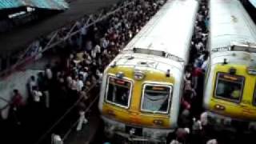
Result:
[[256,76],[248,74],[246,66],[216,66],[210,110],[232,118],[256,120],[255,81]]

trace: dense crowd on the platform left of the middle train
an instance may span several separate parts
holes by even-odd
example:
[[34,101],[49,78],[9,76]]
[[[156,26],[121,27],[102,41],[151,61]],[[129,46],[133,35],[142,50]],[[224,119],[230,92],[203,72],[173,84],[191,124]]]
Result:
[[[76,130],[82,130],[82,124],[88,122],[86,107],[97,90],[88,91],[98,86],[105,67],[165,1],[124,1],[122,9],[92,26],[86,26],[86,18],[75,22],[74,30],[79,30],[79,33],[58,45],[55,51],[58,61],[46,65],[38,75],[31,75],[27,84],[28,99],[22,99],[24,97],[19,91],[14,90],[10,119],[22,125],[25,121],[22,114],[26,113],[24,107],[30,106],[30,114],[40,119],[46,110],[64,112],[75,103],[78,118]],[[114,6],[112,10],[117,8]],[[58,37],[65,37],[68,32],[69,29],[63,28]],[[37,42],[36,47],[42,47],[43,40]]]

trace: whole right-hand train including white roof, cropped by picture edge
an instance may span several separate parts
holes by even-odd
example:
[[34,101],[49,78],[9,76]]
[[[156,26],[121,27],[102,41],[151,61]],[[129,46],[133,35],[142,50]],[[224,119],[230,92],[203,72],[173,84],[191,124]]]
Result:
[[241,2],[210,0],[210,64],[203,105],[211,124],[254,125],[255,42],[256,26]]

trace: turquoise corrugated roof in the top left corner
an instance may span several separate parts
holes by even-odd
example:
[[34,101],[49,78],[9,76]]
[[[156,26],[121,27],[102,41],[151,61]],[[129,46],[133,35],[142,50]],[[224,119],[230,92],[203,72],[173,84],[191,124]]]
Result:
[[65,0],[1,0],[0,10],[14,9],[18,7],[34,7],[49,10],[65,10],[69,8]]

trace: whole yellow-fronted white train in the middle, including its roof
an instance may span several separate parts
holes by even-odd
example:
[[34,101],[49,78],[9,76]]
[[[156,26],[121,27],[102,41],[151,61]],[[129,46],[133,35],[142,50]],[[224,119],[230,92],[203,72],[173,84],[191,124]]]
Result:
[[177,126],[197,10],[195,0],[168,0],[106,67],[98,107],[107,132],[165,141]]

